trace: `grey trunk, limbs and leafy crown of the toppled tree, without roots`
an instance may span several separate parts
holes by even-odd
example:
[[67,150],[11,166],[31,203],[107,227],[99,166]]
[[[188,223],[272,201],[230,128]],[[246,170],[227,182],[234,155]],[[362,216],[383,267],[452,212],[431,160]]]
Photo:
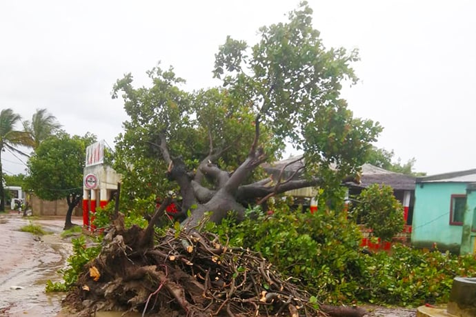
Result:
[[[220,88],[188,93],[172,68],[159,67],[148,72],[151,88],[134,88],[131,74],[117,81],[113,97],[130,117],[115,156],[124,196],[175,188],[196,225],[231,210],[242,218],[248,205],[292,189],[329,194],[356,173],[381,127],[354,118],[340,96],[357,81],[357,52],[324,48],[311,23],[304,2],[286,23],[260,28],[251,47],[228,37],[215,55]],[[262,179],[259,166],[279,159],[286,142],[304,151],[302,177]]]

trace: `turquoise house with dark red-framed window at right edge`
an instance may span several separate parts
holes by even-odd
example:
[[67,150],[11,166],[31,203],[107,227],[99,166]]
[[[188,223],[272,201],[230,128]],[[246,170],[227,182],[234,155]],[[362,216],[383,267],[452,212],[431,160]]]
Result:
[[415,197],[415,247],[475,253],[476,169],[419,177]]

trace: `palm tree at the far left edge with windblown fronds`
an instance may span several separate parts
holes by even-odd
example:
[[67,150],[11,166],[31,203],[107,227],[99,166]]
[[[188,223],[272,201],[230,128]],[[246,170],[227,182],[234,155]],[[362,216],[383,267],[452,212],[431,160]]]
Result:
[[1,165],[1,153],[5,150],[19,152],[17,146],[32,146],[30,134],[25,131],[14,130],[14,126],[21,120],[19,114],[15,114],[10,108],[0,112],[0,212],[5,211],[5,191],[3,189],[3,167]]

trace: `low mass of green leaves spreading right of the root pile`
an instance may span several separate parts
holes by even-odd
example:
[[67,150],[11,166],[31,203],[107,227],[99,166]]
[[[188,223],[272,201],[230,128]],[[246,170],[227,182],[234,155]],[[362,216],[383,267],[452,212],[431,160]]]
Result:
[[326,303],[362,303],[416,307],[446,303],[455,276],[474,276],[476,258],[394,245],[371,256],[359,249],[361,235],[345,214],[302,214],[259,208],[257,218],[235,223],[228,218],[206,229],[232,246],[254,249],[272,269]]

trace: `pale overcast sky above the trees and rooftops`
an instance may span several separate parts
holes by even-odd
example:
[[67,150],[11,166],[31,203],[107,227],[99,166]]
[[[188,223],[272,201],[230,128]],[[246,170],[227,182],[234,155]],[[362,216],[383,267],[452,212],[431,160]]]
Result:
[[[299,1],[0,2],[0,109],[31,119],[47,108],[70,134],[113,146],[127,119],[112,85],[173,65],[193,90],[216,85],[226,36],[255,43]],[[476,1],[310,0],[327,47],[358,48],[358,85],[344,90],[355,116],[385,128],[377,146],[417,171],[476,168]],[[3,154],[8,174],[25,166]],[[20,157],[21,158],[21,157]],[[22,159],[26,161],[26,159]]]

